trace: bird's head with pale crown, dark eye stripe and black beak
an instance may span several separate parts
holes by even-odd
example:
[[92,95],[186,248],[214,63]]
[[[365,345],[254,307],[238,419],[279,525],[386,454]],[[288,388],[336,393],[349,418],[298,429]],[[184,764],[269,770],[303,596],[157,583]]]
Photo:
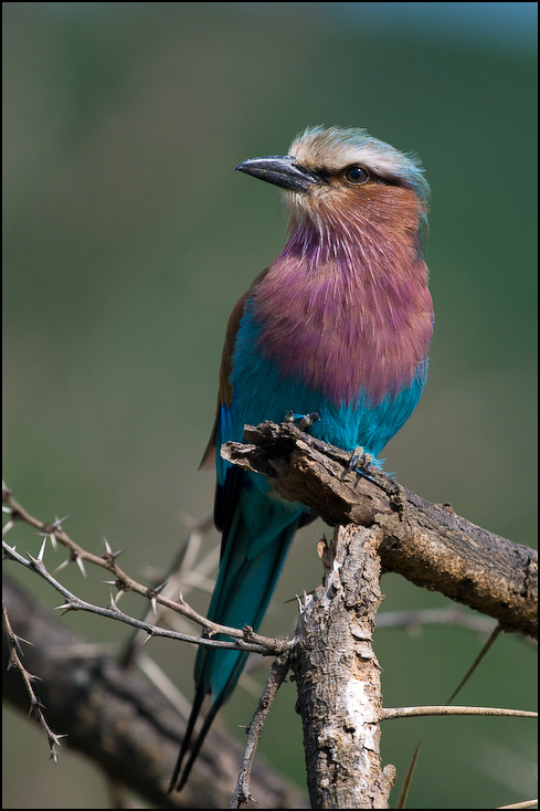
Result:
[[285,191],[292,230],[315,225],[349,230],[378,222],[423,235],[430,187],[420,160],[364,129],[310,127],[288,155],[253,158],[236,169]]

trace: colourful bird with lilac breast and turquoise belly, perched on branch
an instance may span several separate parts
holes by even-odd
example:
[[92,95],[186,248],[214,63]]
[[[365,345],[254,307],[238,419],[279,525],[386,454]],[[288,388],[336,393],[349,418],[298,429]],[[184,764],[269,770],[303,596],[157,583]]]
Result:
[[[216,466],[214,522],[222,533],[208,618],[257,630],[295,534],[314,514],[280,498],[264,476],[231,465],[220,449],[241,442],[245,424],[280,422],[293,412],[316,415],[308,421],[314,436],[351,453],[362,447],[380,464],[426,381],[434,320],[424,261],[430,187],[413,152],[356,127],[310,127],[287,155],[248,159],[236,170],[279,187],[289,217],[283,251],[232,310],[201,463]],[[186,784],[246,656],[199,647],[170,790]]]

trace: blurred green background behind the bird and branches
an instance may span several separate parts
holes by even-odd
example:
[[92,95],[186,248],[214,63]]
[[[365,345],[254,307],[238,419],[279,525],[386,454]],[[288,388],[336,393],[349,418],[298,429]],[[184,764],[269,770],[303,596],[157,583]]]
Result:
[[[144,578],[211,509],[198,473],[233,304],[284,242],[275,189],[234,167],[285,152],[315,124],[366,127],[416,150],[432,186],[435,336],[424,397],[385,450],[425,498],[536,543],[536,3],[3,3],[4,476],[41,518],[72,514]],[[288,633],[320,579],[304,530],[263,630]],[[10,536],[35,552],[24,528]],[[208,545],[215,545],[214,533]],[[63,559],[47,552],[54,568]],[[59,598],[15,571],[50,605]],[[102,573],[66,586],[98,601]],[[441,607],[383,578],[383,609]],[[208,597],[192,594],[204,610]],[[190,599],[191,599],[190,597]],[[140,615],[140,601],[123,604]],[[97,642],[128,630],[68,614]],[[483,639],[380,631],[387,706],[444,702]],[[151,652],[191,698],[193,651]],[[147,647],[147,651],[149,649]],[[265,677],[264,668],[255,674]],[[532,708],[533,651],[500,639],[459,702]],[[261,756],[305,784],[286,685]],[[239,689],[232,730],[255,699]],[[107,808],[100,775],[7,712],[4,808]],[[62,731],[62,730],[57,730]],[[399,783],[424,745],[409,807],[533,797],[529,722],[424,718],[383,727]],[[31,779],[28,776],[31,775]],[[394,793],[395,802],[395,793]]]

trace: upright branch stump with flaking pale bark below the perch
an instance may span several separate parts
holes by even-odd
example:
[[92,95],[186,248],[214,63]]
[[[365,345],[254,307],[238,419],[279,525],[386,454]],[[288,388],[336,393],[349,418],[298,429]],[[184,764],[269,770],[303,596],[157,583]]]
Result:
[[382,768],[381,667],[371,640],[382,601],[377,531],[336,527],[325,583],[306,598],[292,665],[311,808],[389,808]]

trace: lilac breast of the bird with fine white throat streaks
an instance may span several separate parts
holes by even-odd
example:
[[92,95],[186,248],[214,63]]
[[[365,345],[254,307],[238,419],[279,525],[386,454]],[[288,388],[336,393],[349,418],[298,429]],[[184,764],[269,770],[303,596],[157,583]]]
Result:
[[427,268],[415,239],[381,240],[366,224],[349,236],[325,245],[315,230],[292,234],[256,292],[260,349],[337,406],[361,393],[377,404],[427,356]]

